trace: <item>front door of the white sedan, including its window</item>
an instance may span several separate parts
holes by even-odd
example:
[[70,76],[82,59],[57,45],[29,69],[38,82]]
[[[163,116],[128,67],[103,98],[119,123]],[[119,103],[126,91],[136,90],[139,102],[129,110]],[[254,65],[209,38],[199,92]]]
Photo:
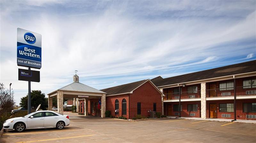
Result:
[[30,116],[27,119],[28,128],[44,127],[44,112],[38,112],[32,116],[33,118],[30,118]]

